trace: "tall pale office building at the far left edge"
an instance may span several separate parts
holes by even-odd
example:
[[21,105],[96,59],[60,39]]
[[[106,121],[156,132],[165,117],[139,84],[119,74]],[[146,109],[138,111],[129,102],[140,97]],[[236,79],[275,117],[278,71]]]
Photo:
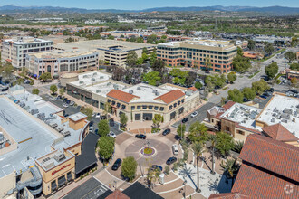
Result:
[[12,62],[14,67],[25,66],[26,54],[31,52],[47,52],[53,50],[53,42],[34,37],[18,37],[2,42],[2,59]]

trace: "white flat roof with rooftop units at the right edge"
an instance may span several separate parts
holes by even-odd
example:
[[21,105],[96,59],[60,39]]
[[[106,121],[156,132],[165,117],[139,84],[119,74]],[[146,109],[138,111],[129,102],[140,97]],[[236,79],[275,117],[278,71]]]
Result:
[[295,137],[299,137],[299,99],[276,93],[256,120],[268,126],[281,123]]

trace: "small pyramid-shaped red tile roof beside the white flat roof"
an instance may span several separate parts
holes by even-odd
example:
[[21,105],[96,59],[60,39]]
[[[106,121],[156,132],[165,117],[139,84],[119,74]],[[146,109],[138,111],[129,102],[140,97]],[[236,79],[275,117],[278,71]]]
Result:
[[271,125],[265,128],[262,128],[263,133],[267,136],[276,139],[278,141],[297,141],[298,138],[295,137],[288,129],[286,129],[281,124]]

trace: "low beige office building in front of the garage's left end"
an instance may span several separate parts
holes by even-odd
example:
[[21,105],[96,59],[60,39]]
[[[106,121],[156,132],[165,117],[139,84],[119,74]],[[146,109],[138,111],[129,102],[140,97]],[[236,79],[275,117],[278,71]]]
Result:
[[26,67],[40,76],[44,72],[63,74],[95,68],[99,63],[99,52],[86,51],[52,51],[37,52],[26,55]]

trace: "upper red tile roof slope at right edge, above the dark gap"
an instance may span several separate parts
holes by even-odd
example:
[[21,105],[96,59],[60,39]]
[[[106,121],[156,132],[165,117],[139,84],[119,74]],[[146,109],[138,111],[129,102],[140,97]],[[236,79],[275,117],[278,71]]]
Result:
[[246,138],[239,158],[275,174],[299,181],[299,147],[252,134]]

